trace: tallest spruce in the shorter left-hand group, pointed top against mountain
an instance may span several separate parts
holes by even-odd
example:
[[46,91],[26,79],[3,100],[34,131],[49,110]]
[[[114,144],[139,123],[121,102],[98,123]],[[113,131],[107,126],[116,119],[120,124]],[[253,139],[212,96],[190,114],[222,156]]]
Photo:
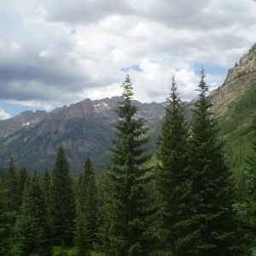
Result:
[[62,146],[55,160],[50,187],[50,221],[55,245],[73,246],[75,231],[75,201],[73,180],[69,174],[69,166]]

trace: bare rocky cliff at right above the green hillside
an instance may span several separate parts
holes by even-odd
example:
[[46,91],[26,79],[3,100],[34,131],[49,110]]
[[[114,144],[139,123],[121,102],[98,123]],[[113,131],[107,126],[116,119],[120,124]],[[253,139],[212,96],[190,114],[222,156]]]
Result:
[[256,44],[229,70],[224,84],[210,93],[212,111],[217,116],[224,115],[230,103],[236,102],[253,84],[256,84]]

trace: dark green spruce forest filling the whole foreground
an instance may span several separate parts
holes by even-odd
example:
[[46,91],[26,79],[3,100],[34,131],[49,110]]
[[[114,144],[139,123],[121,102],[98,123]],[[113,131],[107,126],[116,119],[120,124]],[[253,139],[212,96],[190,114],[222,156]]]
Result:
[[105,172],[96,175],[84,155],[84,170],[71,176],[61,144],[42,177],[10,158],[0,183],[0,255],[254,255],[256,116],[238,183],[203,69],[189,124],[172,79],[154,165],[129,75],[122,89]]

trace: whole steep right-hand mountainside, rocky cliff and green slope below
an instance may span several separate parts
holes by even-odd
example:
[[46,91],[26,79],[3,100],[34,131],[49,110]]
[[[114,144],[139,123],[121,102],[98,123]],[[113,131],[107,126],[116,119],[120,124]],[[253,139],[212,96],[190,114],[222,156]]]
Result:
[[231,68],[224,84],[209,95],[219,119],[226,159],[235,177],[241,178],[245,158],[252,154],[252,114],[256,113],[256,44]]

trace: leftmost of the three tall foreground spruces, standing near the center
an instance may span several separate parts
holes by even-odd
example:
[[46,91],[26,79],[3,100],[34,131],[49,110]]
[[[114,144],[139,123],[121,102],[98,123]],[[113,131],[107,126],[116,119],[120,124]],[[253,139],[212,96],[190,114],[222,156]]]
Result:
[[153,241],[148,232],[147,218],[152,208],[145,186],[151,177],[145,163],[149,156],[143,145],[148,129],[144,119],[136,119],[137,107],[132,104],[133,88],[129,75],[122,84],[123,101],[115,112],[119,120],[113,124],[117,139],[113,139],[108,170],[108,197],[104,209],[105,225],[101,234],[103,251],[107,255],[150,255]]

